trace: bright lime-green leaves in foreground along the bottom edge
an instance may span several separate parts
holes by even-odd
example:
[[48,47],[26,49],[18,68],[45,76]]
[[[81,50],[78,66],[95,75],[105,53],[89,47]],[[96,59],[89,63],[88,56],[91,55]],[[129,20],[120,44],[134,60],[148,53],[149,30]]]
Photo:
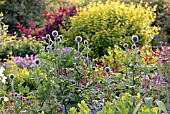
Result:
[[[101,111],[98,111],[97,114],[159,114],[160,110],[163,110],[165,114],[165,105],[161,101],[158,106],[154,106],[153,98],[145,98],[146,103],[142,103],[140,94],[137,96],[131,96],[128,93],[125,93],[120,100],[113,99],[112,102],[106,102],[105,106],[102,107]],[[161,105],[162,104],[162,105]],[[161,105],[161,106],[160,106]],[[84,101],[81,101],[81,104],[78,105],[80,112],[77,112],[76,108],[70,108],[69,114],[89,114],[89,109]]]

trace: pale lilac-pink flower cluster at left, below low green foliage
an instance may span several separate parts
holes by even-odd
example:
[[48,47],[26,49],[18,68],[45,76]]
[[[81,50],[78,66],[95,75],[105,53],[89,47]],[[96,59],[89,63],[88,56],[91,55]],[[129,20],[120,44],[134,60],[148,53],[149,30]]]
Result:
[[13,57],[12,60],[15,61],[18,67],[32,69],[36,66],[38,58],[34,55],[31,55],[30,57],[26,55],[26,57]]

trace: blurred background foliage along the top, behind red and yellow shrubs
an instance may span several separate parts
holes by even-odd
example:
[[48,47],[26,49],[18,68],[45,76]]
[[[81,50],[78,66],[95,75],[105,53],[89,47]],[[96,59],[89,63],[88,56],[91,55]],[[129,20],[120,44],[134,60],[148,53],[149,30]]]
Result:
[[[29,20],[32,19],[41,26],[45,23],[44,16],[41,13],[43,10],[49,12],[58,11],[59,7],[69,7],[76,5],[83,7],[88,5],[92,1],[99,0],[1,0],[0,11],[4,14],[3,22],[9,25],[9,33],[17,31],[16,22],[21,22],[23,25],[28,26]],[[100,0],[105,2],[107,0]],[[122,2],[139,3],[140,0],[121,0]],[[153,45],[156,45],[160,40],[164,41],[164,45],[170,45],[170,0],[143,0],[148,2],[149,5],[158,5],[157,18],[152,25],[161,27],[161,31],[158,37],[152,41]]]

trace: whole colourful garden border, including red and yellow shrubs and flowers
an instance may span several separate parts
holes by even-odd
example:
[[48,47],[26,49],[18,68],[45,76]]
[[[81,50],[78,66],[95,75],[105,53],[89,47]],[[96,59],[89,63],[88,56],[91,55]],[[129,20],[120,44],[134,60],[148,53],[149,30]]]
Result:
[[47,22],[0,15],[0,113],[169,114],[170,47],[151,46],[156,6],[120,1],[43,11]]

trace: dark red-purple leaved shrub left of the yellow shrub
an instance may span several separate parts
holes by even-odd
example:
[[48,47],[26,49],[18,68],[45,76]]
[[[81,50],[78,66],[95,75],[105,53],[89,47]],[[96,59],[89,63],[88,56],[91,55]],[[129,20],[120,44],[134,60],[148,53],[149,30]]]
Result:
[[[37,28],[37,22],[30,20],[29,27],[25,27],[20,22],[17,22],[17,27],[22,34],[25,34],[26,37],[29,35],[35,36],[36,39],[44,40],[43,37],[46,34],[52,36],[52,31],[59,31],[59,26],[65,27],[66,19],[70,16],[73,16],[76,13],[76,7],[72,6],[70,8],[60,7],[57,12],[48,13],[46,10],[43,10],[43,15],[47,19],[46,24],[42,28]],[[60,31],[59,31],[60,32]]]

